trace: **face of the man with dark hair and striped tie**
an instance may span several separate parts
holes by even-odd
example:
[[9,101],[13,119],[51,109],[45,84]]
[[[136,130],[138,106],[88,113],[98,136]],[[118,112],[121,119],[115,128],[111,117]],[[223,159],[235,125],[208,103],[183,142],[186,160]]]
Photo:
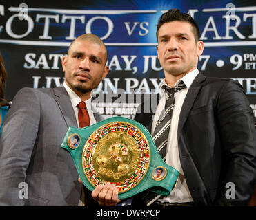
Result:
[[203,50],[204,43],[195,42],[190,23],[171,21],[159,28],[157,54],[165,74],[179,76],[192,71]]

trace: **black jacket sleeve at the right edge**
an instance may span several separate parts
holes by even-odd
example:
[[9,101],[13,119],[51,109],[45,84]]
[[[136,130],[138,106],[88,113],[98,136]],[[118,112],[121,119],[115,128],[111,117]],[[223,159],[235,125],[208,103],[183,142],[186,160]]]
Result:
[[224,152],[217,206],[247,206],[256,179],[256,129],[244,89],[235,80],[223,87],[217,101],[217,123]]

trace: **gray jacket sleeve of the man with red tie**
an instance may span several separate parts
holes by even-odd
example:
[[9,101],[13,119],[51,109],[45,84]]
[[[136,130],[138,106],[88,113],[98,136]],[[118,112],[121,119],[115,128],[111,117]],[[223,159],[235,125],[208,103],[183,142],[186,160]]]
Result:
[[2,127],[0,206],[23,206],[25,203],[26,170],[33,148],[36,147],[39,121],[40,104],[37,90],[21,89],[14,97]]

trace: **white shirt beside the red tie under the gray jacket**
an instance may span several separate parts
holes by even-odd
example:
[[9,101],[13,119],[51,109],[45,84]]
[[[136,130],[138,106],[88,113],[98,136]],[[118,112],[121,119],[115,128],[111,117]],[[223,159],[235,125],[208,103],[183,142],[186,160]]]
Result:
[[[72,89],[70,89],[70,87],[68,87],[66,82],[63,83],[63,86],[65,87],[66,91],[68,92],[68,96],[70,97],[72,107],[75,112],[75,118],[77,119],[77,127],[79,127],[79,121],[78,121],[78,110],[79,109],[77,107],[77,104],[79,104],[79,102],[81,102],[81,98],[79,98],[79,96],[77,96],[75,91],[73,91]],[[93,111],[92,111],[92,98],[89,98],[88,100],[86,100],[85,103],[86,103],[86,109],[88,111],[89,118],[90,118],[90,125],[95,124],[96,123],[95,115],[93,114]]]

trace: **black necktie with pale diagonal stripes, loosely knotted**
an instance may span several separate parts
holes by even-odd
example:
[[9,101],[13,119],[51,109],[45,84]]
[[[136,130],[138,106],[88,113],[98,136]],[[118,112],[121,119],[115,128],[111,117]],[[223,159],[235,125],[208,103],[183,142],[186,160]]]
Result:
[[153,136],[153,140],[155,145],[157,146],[157,151],[163,158],[164,162],[166,161],[166,146],[168,142],[168,135],[170,131],[170,122],[172,120],[173,115],[173,107],[175,104],[174,94],[181,89],[185,89],[186,85],[181,81],[179,85],[175,88],[170,88],[167,85],[163,86],[166,91],[168,91],[168,96],[166,98],[166,105],[164,110],[161,112],[159,120],[155,126],[155,131]]

